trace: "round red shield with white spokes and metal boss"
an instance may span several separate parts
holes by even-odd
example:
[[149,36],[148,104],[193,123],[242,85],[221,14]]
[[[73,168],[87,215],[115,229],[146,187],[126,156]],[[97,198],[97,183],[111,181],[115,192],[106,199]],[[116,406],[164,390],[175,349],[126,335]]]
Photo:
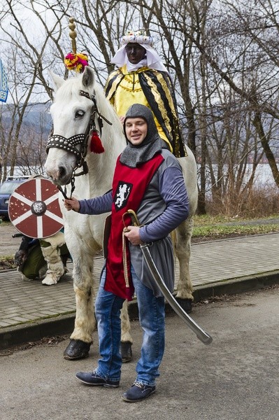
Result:
[[10,221],[23,235],[31,238],[55,235],[64,226],[58,198],[59,190],[48,179],[29,179],[10,196]]

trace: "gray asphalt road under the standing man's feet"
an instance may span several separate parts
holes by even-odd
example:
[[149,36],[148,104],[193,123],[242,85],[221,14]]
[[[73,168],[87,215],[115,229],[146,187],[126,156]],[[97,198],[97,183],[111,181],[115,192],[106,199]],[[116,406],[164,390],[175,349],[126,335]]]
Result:
[[[129,404],[121,395],[134,381],[141,344],[134,327],[134,361],[123,365],[120,388],[93,388],[74,374],[90,358],[62,358],[65,342],[6,356],[0,352],[1,420],[278,420],[279,288],[217,300],[195,308],[213,336],[203,345],[176,316],[166,318],[166,351],[157,391]],[[94,333],[96,339],[96,332]]]

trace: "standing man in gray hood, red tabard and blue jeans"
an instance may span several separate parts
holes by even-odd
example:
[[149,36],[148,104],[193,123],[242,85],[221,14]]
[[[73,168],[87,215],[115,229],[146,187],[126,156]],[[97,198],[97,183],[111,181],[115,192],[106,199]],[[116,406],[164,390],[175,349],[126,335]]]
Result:
[[[101,358],[93,372],[78,372],[76,377],[88,385],[119,386],[120,309],[135,292],[143,344],[136,381],[122,398],[137,402],[155,392],[165,339],[164,297],[139,245],[150,243],[157,269],[173,292],[174,259],[169,233],[187,218],[189,201],[182,169],[159,137],[150,109],[132,105],[124,118],[124,133],[128,144],[117,159],[113,189],[91,200],[64,200],[64,205],[81,214],[111,211],[106,262],[95,302]],[[131,226],[128,209],[138,214],[141,227]]]

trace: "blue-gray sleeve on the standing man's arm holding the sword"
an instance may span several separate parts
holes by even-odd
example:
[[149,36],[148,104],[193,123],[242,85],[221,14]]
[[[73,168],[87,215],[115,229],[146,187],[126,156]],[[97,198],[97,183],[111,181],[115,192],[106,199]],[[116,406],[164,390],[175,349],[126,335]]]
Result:
[[169,167],[160,174],[159,194],[166,203],[166,209],[154,221],[140,228],[143,242],[166,237],[185,221],[189,214],[189,199],[180,168]]

